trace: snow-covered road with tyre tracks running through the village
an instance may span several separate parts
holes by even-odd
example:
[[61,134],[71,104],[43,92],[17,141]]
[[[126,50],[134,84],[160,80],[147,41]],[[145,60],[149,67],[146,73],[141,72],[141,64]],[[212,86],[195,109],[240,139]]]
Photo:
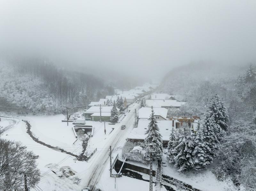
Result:
[[[109,165],[109,146],[112,146],[112,149],[115,150],[119,144],[123,144],[125,142],[125,139],[127,135],[132,131],[133,129],[133,123],[134,123],[134,110],[138,110],[139,104],[134,103],[132,104],[129,109],[131,110],[125,118],[120,123],[119,128],[114,129],[112,132],[114,135],[109,137],[109,140],[104,148],[101,149],[100,152],[97,152],[95,156],[92,159],[92,165],[88,169],[88,172],[90,172],[90,177],[88,178],[88,175],[84,177],[84,180],[81,182],[81,185],[83,187],[91,187],[92,191],[96,190],[97,185],[100,182],[101,175],[103,173],[104,168],[106,165]],[[121,125],[126,125],[126,129],[121,129]]]

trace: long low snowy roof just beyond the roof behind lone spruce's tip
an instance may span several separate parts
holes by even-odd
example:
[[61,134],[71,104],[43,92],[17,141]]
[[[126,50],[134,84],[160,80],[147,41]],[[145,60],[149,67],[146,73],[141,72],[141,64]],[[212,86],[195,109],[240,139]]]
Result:
[[161,99],[147,99],[146,106],[147,107],[180,107],[186,102],[179,102],[177,100],[161,100]]

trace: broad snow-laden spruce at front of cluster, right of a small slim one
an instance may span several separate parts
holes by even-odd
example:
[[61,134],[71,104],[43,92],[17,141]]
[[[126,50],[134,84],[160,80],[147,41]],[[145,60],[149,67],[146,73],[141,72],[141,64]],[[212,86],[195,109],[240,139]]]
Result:
[[188,123],[183,123],[182,128],[184,134],[179,136],[178,145],[173,149],[172,152],[173,154],[178,153],[174,157],[174,159],[177,160],[174,166],[179,168],[179,172],[194,166],[194,140],[191,136]]

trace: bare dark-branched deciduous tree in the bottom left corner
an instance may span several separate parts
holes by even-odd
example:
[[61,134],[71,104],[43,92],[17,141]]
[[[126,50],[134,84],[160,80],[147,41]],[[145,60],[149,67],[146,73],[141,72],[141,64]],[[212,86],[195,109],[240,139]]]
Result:
[[20,142],[0,139],[0,191],[24,190],[24,176],[28,186],[40,180],[35,155]]

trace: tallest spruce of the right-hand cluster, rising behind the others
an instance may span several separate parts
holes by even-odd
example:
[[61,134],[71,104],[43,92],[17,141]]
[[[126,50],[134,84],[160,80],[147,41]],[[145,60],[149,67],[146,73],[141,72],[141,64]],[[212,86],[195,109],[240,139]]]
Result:
[[217,131],[216,135],[217,133],[220,133],[220,128],[225,131],[228,129],[228,115],[226,113],[226,107],[224,107],[224,103],[220,100],[217,93],[212,96],[209,104],[207,105],[206,111],[210,117],[214,118],[215,123],[219,126],[215,129]]

